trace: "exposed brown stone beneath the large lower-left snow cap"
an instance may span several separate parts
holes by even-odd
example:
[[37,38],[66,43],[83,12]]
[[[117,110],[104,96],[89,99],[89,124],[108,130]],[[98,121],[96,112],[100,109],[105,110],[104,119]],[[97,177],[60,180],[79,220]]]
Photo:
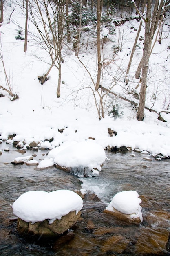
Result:
[[62,216],[60,220],[55,220],[52,224],[49,224],[48,220],[35,222],[26,222],[18,218],[18,231],[20,234],[29,234],[35,236],[57,236],[70,229],[80,217],[81,212],[76,214],[76,211],[72,211],[65,216]]

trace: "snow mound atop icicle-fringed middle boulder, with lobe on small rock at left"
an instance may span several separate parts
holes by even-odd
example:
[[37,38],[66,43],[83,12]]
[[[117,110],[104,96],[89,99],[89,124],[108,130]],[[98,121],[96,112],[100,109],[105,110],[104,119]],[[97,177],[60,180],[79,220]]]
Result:
[[88,167],[93,176],[96,176],[99,175],[97,170],[101,171],[101,165],[105,159],[104,149],[96,142],[90,139],[83,142],[71,141],[53,148],[48,157],[38,164],[38,168],[46,168],[54,164],[67,168]]

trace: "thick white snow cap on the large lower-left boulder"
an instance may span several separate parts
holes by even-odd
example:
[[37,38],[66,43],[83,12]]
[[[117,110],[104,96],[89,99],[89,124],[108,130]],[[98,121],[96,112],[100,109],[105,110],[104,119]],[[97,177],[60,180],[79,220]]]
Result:
[[70,190],[28,191],[15,200],[13,213],[26,222],[60,220],[71,211],[76,214],[82,209],[82,198]]

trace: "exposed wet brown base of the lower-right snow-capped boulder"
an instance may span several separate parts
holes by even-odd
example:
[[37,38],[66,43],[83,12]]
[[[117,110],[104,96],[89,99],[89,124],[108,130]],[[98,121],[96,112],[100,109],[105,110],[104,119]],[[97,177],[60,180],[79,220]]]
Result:
[[133,215],[121,213],[120,211],[117,211],[114,207],[113,207],[112,211],[108,211],[107,209],[104,209],[104,213],[111,214],[115,218],[117,218],[123,222],[128,222],[128,223],[133,223],[133,224],[141,223],[141,218],[138,215],[136,215],[135,213]]

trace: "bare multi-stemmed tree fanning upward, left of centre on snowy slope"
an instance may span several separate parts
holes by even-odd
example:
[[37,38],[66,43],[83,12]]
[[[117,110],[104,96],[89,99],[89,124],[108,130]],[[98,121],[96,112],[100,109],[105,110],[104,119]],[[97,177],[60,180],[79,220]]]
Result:
[[[62,59],[62,43],[64,38],[65,27],[65,1],[46,1],[46,0],[33,0],[30,3],[31,17],[35,27],[40,35],[40,43],[44,45],[44,49],[48,52],[51,58],[51,65],[42,77],[38,79],[43,84],[48,80],[47,74],[55,66],[58,70],[58,85],[57,97],[60,97],[61,86],[61,63]],[[35,13],[38,12],[38,16]],[[42,28],[40,28],[39,22]]]

